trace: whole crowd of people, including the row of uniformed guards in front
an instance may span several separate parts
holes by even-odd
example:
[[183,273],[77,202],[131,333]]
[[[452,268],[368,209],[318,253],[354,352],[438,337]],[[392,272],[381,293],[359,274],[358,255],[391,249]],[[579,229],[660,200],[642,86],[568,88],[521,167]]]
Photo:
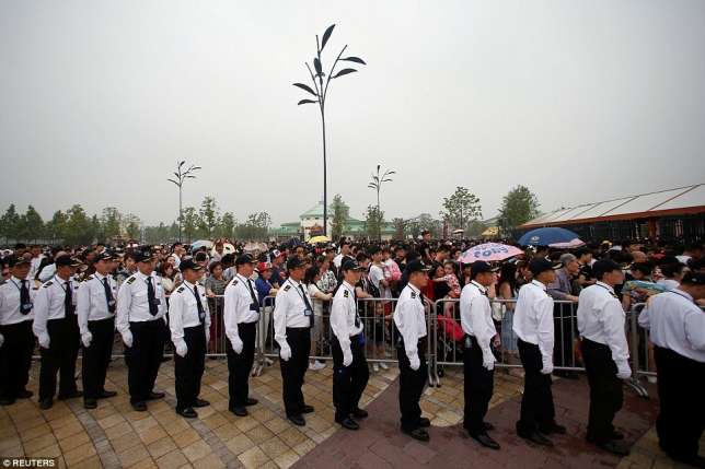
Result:
[[[662,447],[679,460],[702,464],[697,438],[705,406],[700,398],[689,401],[691,407],[673,403],[679,400],[674,386],[685,378],[693,396],[704,390],[702,244],[535,246],[499,262],[460,262],[474,244],[432,239],[428,232],[406,241],[273,242],[251,253],[229,239],[196,249],[182,243],[126,248],[19,244],[0,251],[0,404],[32,397],[26,385],[38,343],[39,406],[51,407],[58,374],[59,399],[83,397],[86,408],[97,407],[100,399],[115,395],[104,385],[117,332],[135,410],[163,397],[153,385],[166,345],[174,351],[180,414],[195,418],[195,409],[208,404],[198,396],[210,351],[227,355],[229,409],[246,415],[246,408],[257,403],[247,378],[255,325],[264,319],[265,336],[271,327],[271,344],[279,350],[292,423],[304,425],[303,415],[313,412],[301,392],[304,374],[326,366],[311,357],[332,356],[336,422],[359,429],[367,417],[358,404],[369,373],[386,370],[391,360],[385,359],[396,350],[402,430],[427,441],[429,422],[418,406],[427,382],[426,320],[429,305],[442,300],[435,316],[462,329],[464,427],[472,437],[499,448],[488,434],[492,424],[484,421],[498,360],[516,365],[511,373],[524,378],[517,432],[539,445],[551,445],[550,434],[565,433],[555,421],[551,375],[576,378],[576,371],[585,368],[591,389],[587,437],[623,455],[628,449],[612,420],[622,406],[621,379],[632,376],[624,314],[647,303],[654,306],[646,307],[639,324],[659,329],[651,332],[651,349],[662,401]],[[679,307],[683,313],[673,314],[670,326],[656,313]],[[678,318],[689,327],[675,324]],[[82,391],[74,378],[80,349]],[[369,354],[381,360],[368,366]],[[678,419],[689,411],[695,422],[683,430]]]

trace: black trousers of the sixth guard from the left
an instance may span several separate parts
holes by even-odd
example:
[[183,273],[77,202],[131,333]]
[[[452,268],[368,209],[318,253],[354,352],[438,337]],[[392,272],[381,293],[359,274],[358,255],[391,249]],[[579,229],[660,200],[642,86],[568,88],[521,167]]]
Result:
[[[230,395],[229,409],[245,407],[250,397],[250,372],[255,361],[255,336],[257,321],[238,324],[238,335],[242,340],[242,352],[235,353],[230,339],[226,339],[228,353],[228,394]],[[292,352],[293,353],[293,352]]]

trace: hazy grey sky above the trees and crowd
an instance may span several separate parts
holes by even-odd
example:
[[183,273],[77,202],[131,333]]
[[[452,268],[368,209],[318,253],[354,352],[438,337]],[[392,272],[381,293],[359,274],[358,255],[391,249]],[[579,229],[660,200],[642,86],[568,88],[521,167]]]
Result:
[[314,35],[332,84],[328,194],[388,219],[455,186],[486,218],[524,184],[544,211],[705,179],[705,2],[36,1],[0,5],[0,208],[80,202],[174,220],[185,204],[297,220],[322,198],[320,116],[297,106]]

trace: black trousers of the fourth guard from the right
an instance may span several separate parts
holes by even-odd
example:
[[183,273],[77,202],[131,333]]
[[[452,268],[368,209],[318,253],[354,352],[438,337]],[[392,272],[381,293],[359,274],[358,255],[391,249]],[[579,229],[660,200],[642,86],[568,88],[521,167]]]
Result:
[[483,351],[474,336],[463,352],[465,412],[463,427],[471,435],[485,433],[485,414],[495,388],[495,371],[483,366]]

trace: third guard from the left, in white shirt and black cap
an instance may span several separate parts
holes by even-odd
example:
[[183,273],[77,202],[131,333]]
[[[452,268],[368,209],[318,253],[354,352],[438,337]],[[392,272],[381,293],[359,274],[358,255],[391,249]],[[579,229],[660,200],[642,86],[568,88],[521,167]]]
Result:
[[105,251],[95,255],[93,267],[95,272],[79,284],[76,302],[83,344],[81,377],[83,407],[86,409],[95,409],[97,399],[117,395],[105,390],[105,375],[113,354],[117,306],[117,282],[109,274],[113,256]]

